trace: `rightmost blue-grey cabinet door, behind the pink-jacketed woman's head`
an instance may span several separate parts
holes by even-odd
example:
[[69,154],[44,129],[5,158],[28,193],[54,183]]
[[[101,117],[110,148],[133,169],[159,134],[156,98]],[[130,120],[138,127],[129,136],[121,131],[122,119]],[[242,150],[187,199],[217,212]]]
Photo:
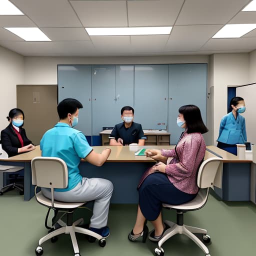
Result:
[[176,144],[182,129],[176,124],[178,108],[194,104],[200,108],[206,124],[207,64],[169,64],[168,130]]

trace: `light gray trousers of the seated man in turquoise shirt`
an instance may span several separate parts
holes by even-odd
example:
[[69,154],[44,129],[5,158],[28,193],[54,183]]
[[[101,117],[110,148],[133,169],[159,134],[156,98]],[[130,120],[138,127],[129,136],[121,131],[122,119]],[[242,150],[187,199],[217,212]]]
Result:
[[[44,196],[50,198],[50,190],[41,188]],[[64,192],[54,191],[54,199],[63,202],[86,202],[94,200],[90,226],[101,228],[107,224],[107,216],[113,184],[104,178],[83,177],[73,189]]]

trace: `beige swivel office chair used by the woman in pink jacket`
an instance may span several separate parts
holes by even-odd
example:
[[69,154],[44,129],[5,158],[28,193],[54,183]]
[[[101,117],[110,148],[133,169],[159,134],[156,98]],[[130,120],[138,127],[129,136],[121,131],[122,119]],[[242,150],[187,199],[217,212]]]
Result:
[[[220,160],[220,158],[212,157],[202,162],[197,175],[199,191],[193,200],[179,205],[163,203],[164,208],[176,210],[176,223],[164,220],[164,223],[169,225],[170,228],[167,229],[167,233],[158,241],[158,247],[154,249],[154,253],[156,255],[163,256],[164,250],[161,247],[162,244],[174,234],[179,233],[188,236],[203,250],[206,256],[210,256],[208,248],[204,245],[204,243],[210,242],[210,236],[207,234],[207,230],[184,225],[183,213],[190,210],[198,210],[205,205],[208,198],[209,188],[213,188],[216,172],[218,168],[221,167]],[[202,240],[204,243],[193,233],[202,234]]]

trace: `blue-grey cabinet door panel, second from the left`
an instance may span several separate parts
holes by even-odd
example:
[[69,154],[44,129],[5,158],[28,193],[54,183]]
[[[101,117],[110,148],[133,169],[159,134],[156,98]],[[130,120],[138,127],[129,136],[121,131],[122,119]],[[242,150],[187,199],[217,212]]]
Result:
[[98,135],[103,126],[114,126],[115,66],[92,66],[92,135]]

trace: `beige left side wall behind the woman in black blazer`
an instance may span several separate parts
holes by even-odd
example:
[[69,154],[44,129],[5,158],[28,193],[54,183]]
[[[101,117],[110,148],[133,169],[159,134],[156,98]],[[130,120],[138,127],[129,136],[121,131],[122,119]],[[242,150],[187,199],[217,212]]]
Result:
[[24,57],[0,46],[0,130],[5,118],[16,107],[16,84],[24,83]]

